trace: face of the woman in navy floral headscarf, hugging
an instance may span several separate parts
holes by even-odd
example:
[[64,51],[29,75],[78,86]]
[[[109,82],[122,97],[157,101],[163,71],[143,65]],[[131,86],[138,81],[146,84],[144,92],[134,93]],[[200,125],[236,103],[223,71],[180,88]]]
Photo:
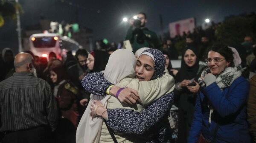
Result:
[[139,81],[149,81],[154,74],[154,61],[148,55],[140,55],[136,63],[136,78]]

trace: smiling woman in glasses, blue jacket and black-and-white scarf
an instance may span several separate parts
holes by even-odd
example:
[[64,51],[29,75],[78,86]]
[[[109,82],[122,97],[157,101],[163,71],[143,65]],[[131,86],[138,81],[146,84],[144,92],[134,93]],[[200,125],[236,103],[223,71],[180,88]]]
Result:
[[208,49],[198,79],[194,119],[188,143],[250,143],[246,104],[249,82],[234,66],[233,52],[225,45]]

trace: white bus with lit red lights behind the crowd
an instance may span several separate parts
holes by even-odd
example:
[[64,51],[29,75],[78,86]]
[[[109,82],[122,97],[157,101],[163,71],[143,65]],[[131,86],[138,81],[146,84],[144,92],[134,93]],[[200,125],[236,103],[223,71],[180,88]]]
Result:
[[78,42],[70,39],[67,36],[60,36],[54,33],[41,33],[32,34],[29,37],[30,51],[39,57],[46,57],[50,52],[54,52],[58,59],[65,59],[67,51],[72,51],[72,54],[76,54],[76,50],[82,48]]

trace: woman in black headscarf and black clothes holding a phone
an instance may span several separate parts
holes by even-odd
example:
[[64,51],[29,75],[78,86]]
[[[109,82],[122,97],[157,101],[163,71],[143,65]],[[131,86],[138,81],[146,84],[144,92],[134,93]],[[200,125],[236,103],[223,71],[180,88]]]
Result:
[[181,67],[175,76],[175,103],[179,108],[178,143],[184,143],[187,140],[199,90],[198,78],[204,67],[199,64],[198,51],[194,47],[189,46],[183,50]]

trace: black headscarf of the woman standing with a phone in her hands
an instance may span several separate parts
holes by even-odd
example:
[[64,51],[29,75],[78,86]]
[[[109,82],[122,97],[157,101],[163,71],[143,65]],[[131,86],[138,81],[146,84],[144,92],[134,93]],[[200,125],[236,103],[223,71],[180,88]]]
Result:
[[[192,50],[195,55],[197,56],[196,58],[196,62],[195,64],[192,66],[192,67],[189,67],[183,57],[185,55],[185,52],[186,50]],[[177,73],[177,76],[176,76],[176,79],[175,79],[175,82],[181,82],[183,81],[184,79],[193,79],[195,78],[195,76],[197,75],[198,73],[198,69],[199,69],[199,59],[198,59],[198,51],[196,50],[195,47],[186,47],[183,52],[182,52],[182,58],[181,58],[181,67],[180,67],[180,70],[179,72]],[[197,80],[196,80],[197,81]]]

